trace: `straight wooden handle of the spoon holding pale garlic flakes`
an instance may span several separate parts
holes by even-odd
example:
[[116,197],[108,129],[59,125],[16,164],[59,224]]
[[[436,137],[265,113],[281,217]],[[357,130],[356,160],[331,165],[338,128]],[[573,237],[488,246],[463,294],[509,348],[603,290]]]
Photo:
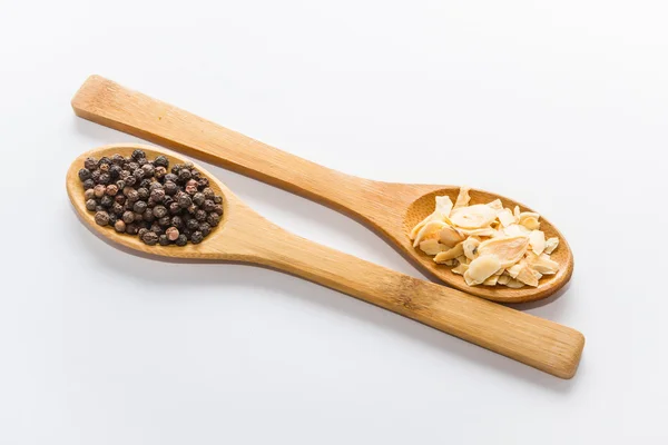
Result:
[[[174,148],[337,210],[358,215],[377,182],[328,169],[99,76],[72,99],[75,113]],[[361,215],[360,215],[361,216]]]

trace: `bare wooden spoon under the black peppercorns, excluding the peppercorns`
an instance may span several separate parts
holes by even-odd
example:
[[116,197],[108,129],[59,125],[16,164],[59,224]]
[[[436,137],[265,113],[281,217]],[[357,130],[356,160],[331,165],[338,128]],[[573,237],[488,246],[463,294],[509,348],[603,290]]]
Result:
[[96,225],[94,212],[86,210],[78,170],[89,156],[98,159],[115,154],[129,156],[137,148],[145,150],[150,158],[165,155],[171,165],[186,162],[180,156],[155,147],[111,145],[81,155],[67,174],[67,192],[80,218],[110,241],[160,257],[242,261],[279,269],[558,377],[570,378],[576,373],[584,346],[584,337],[579,332],[460,290],[402,275],[287,233],[248,208],[199,166],[196,168],[209,178],[210,187],[224,199],[220,225],[202,244],[147,246],[137,236],[118,234],[112,227]]

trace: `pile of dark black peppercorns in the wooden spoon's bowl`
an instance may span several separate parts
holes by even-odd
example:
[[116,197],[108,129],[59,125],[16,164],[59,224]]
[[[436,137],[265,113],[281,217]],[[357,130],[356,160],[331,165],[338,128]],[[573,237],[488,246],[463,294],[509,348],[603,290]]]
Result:
[[87,158],[79,170],[86,208],[99,226],[138,235],[149,246],[199,244],[220,222],[223,198],[193,164],[168,168],[165,156],[149,161],[144,150]]

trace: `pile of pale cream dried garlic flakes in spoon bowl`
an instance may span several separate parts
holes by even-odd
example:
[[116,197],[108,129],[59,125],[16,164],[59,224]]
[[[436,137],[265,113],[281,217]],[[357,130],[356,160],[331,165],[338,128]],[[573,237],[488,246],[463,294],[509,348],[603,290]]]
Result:
[[411,231],[413,247],[434,261],[453,266],[469,286],[538,286],[543,275],[553,275],[559,264],[550,254],[559,238],[546,239],[540,215],[511,211],[501,200],[469,206],[469,188],[460,188],[453,205],[448,196],[436,197],[436,209]]

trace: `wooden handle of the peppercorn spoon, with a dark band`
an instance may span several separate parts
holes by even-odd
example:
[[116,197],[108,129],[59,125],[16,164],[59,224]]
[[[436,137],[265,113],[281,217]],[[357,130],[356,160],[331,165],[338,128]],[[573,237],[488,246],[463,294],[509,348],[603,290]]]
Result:
[[284,230],[261,238],[250,248],[254,263],[340,290],[557,377],[571,378],[576,373],[584,337],[570,327],[400,274]]

